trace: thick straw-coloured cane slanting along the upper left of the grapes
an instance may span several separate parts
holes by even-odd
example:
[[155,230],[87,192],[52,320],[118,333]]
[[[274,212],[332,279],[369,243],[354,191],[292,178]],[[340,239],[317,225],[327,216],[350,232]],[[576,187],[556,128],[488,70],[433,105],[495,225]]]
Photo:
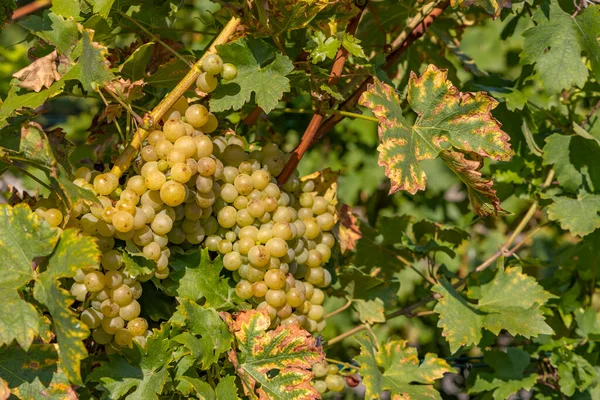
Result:
[[135,158],[137,152],[142,146],[143,141],[148,137],[153,127],[158,124],[158,121],[167,113],[167,111],[173,107],[175,102],[192,86],[192,84],[198,79],[198,76],[202,73],[202,61],[209,54],[217,53],[217,46],[225,44],[229,41],[231,36],[235,33],[240,24],[240,19],[232,17],[227,25],[223,28],[221,33],[215,38],[209,49],[202,55],[202,57],[192,66],[190,71],[183,77],[183,79],[175,86],[175,88],[156,106],[154,109],[144,116],[144,126],[148,129],[144,129],[141,126],[133,134],[133,138],[125,150],[117,158],[115,165],[110,171],[117,177],[121,176],[123,172],[129,168],[131,162]]

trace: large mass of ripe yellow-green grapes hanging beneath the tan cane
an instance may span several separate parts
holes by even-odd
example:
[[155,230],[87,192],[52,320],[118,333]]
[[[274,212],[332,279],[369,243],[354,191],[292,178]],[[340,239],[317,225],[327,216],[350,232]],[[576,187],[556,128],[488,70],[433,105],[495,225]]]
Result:
[[[235,66],[207,56],[196,81],[209,93]],[[325,327],[322,289],[331,283],[324,265],[335,239],[335,207],[298,175],[280,188],[277,177],[288,159],[273,143],[248,146],[235,134],[213,134],[215,115],[180,98],[150,132],[123,184],[110,172],[77,170],[74,183],[99,203],[79,204],[67,227],[97,239],[101,268],[79,270],[71,293],[83,302],[81,320],[107,351],[144,344],[150,334],[140,318],[140,282],[169,276],[169,257],[207,248],[222,255],[237,295],[264,309],[272,326],[299,323],[310,332]],[[247,150],[251,148],[252,150]],[[38,212],[52,226],[63,222],[55,208]],[[123,250],[151,260],[146,275],[130,276]]]

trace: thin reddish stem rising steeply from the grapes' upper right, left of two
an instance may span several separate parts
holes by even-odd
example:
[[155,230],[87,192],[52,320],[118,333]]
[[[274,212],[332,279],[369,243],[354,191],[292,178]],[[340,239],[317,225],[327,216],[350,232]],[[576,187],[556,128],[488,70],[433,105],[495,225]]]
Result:
[[[363,6],[360,9],[360,12],[354,17],[352,17],[352,19],[348,23],[348,26],[346,27],[346,33],[349,33],[351,35],[354,35],[356,33],[356,29],[358,28],[358,23],[360,22],[364,9],[365,8]],[[335,85],[340,80],[340,76],[342,75],[342,72],[344,70],[344,65],[346,64],[347,58],[348,50],[341,46],[336,54],[333,66],[331,67],[331,73],[329,74],[329,79],[327,81],[327,84],[329,86]],[[296,147],[292,154],[290,154],[289,161],[283,168],[281,174],[279,174],[279,177],[277,177],[277,182],[280,185],[283,185],[285,182],[287,182],[289,177],[296,170],[296,167],[302,159],[302,156],[304,156],[304,153],[306,153],[311,143],[313,142],[313,138],[317,133],[317,130],[319,129],[319,126],[321,125],[321,122],[323,122],[324,118],[325,113],[321,110],[317,110],[313,115],[308,126],[306,127],[306,130],[304,131],[304,134],[302,135],[300,144],[298,144],[298,147]]]

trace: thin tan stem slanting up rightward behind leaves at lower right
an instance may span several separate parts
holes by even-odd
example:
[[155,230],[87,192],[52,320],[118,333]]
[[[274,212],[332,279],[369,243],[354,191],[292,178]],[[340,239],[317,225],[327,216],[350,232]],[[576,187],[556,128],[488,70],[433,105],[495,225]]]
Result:
[[[547,187],[550,185],[550,183],[552,183],[552,178],[554,177],[554,170],[550,170],[550,172],[548,173],[548,175],[546,176],[546,179],[544,180],[544,183],[542,183],[541,187]],[[490,265],[492,265],[498,258],[504,256],[504,257],[510,257],[512,256],[514,253],[516,253],[516,251],[518,249],[520,249],[526,242],[528,242],[536,233],[538,233],[540,231],[540,229],[542,228],[542,226],[544,225],[540,225],[537,228],[535,228],[534,230],[532,230],[526,237],[523,238],[523,240],[521,240],[519,243],[517,243],[514,247],[512,247],[510,250],[510,246],[512,245],[512,243],[516,240],[516,238],[521,234],[521,232],[523,232],[523,230],[525,229],[525,227],[527,226],[527,224],[529,223],[529,221],[531,221],[531,219],[533,218],[533,216],[535,215],[536,211],[538,210],[538,202],[537,200],[533,202],[533,204],[529,207],[529,209],[527,210],[527,212],[525,213],[525,215],[523,216],[523,218],[521,219],[521,221],[519,222],[519,224],[517,225],[517,227],[515,228],[515,230],[513,231],[513,233],[509,236],[508,239],[506,239],[506,241],[504,242],[504,244],[498,249],[498,251],[496,251],[494,254],[492,254],[487,260],[485,260],[484,262],[482,262],[481,264],[479,264],[473,271],[471,271],[466,277],[460,279],[459,281],[457,281],[456,283],[454,283],[452,285],[452,287],[459,288],[460,286],[464,285],[468,278],[478,272],[481,272],[483,270],[485,270],[486,268],[488,268]],[[392,318],[396,318],[399,317],[401,315],[407,316],[407,317],[415,317],[415,316],[420,316],[420,315],[429,315],[429,313],[426,314],[421,314],[421,313],[415,313],[415,310],[418,309],[419,307],[422,307],[424,305],[426,305],[427,303],[437,300],[441,297],[441,295],[439,293],[435,293],[429,297],[426,297],[425,299],[422,299],[420,301],[418,301],[417,303],[413,303],[411,305],[408,305],[406,307],[403,307],[397,311],[394,311],[388,315],[385,316],[386,321]],[[337,342],[340,342],[344,339],[346,339],[347,337],[350,337],[358,332],[361,332],[363,330],[368,329],[368,326],[365,325],[358,325],[338,336],[335,336],[332,339],[329,339],[327,341],[327,346],[333,345]]]

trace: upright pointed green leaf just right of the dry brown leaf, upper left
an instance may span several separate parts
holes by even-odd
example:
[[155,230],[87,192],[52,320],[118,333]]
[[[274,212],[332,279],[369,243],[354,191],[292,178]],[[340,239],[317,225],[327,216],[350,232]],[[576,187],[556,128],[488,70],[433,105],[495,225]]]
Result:
[[108,49],[93,41],[94,32],[83,30],[82,52],[77,64],[63,76],[63,79],[77,79],[86,91],[93,91],[114,78],[110,63],[106,59]]

